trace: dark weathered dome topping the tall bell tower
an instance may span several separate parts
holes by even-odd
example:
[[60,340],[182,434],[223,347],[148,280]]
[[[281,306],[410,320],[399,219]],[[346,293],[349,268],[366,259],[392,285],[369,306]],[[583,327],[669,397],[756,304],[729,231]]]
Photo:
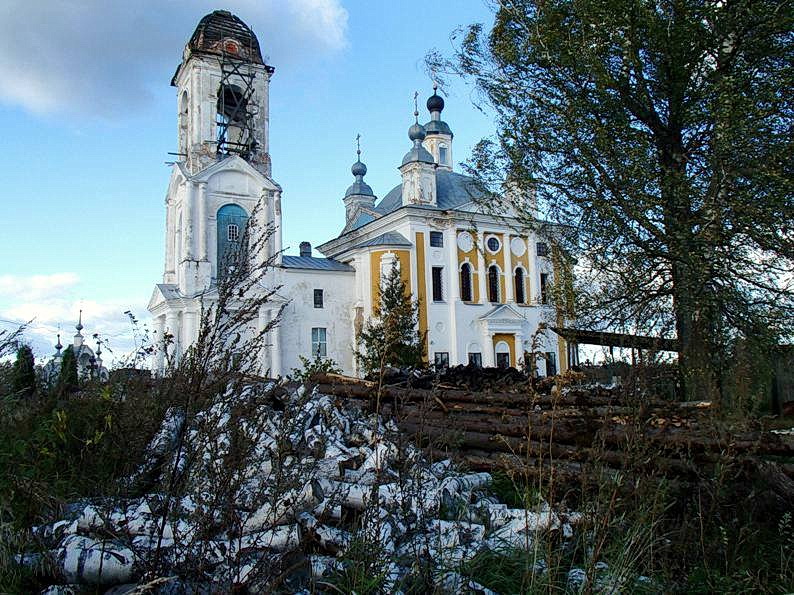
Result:
[[191,52],[228,54],[264,64],[259,40],[240,18],[228,10],[216,10],[199,21],[187,42]]

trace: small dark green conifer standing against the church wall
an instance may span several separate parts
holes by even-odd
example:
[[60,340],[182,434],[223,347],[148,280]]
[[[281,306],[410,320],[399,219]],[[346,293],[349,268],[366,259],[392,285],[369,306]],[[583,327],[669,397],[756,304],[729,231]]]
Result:
[[361,370],[369,375],[385,366],[420,366],[424,342],[418,322],[419,304],[406,292],[395,262],[382,284],[378,317],[367,322],[358,339]]

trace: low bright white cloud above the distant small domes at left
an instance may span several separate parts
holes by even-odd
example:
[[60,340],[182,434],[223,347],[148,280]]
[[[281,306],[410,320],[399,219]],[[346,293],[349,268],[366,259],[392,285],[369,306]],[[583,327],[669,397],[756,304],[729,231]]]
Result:
[[135,346],[133,327],[124,313],[132,310],[139,318],[145,312],[144,303],[129,300],[83,300],[77,296],[80,282],[74,273],[31,275],[28,277],[0,276],[0,327],[11,329],[18,323],[31,321],[25,330],[25,341],[38,358],[52,354],[56,334],[68,345],[75,334],[75,324],[83,311],[83,335],[93,345],[92,336],[98,333],[107,346],[105,361],[122,359]]

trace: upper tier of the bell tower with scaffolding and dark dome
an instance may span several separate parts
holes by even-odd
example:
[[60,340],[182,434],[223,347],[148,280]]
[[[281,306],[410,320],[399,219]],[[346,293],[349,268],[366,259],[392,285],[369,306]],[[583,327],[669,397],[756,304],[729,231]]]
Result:
[[254,32],[226,10],[199,21],[171,79],[177,88],[177,153],[195,174],[239,155],[270,176],[269,87]]

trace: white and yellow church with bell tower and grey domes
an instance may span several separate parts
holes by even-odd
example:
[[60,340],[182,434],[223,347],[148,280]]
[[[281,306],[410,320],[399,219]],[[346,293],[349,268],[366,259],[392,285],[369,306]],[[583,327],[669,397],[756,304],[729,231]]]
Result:
[[[444,100],[434,92],[429,121],[410,127],[407,152],[395,156],[400,183],[383,198],[364,181],[360,159],[353,165],[345,221],[337,237],[317,246],[323,258],[305,242],[299,255],[282,255],[281,205],[289,193],[271,171],[273,73],[253,31],[226,11],[202,18],[185,47],[171,81],[179,160],[165,201],[165,270],[149,302],[157,336],[173,336],[176,358],[196,341],[224,251],[258,207],[275,228],[267,252],[277,266],[266,279],[281,286],[259,324],[286,303],[260,354],[263,374],[288,374],[300,356],[318,353],[356,374],[357,334],[377,312],[381,280],[395,261],[418,300],[429,363],[523,365],[533,335],[556,318],[547,303],[555,274],[549,245],[509,213],[488,213],[474,180],[455,171]],[[565,370],[564,340],[549,329],[541,341],[539,373]]]

